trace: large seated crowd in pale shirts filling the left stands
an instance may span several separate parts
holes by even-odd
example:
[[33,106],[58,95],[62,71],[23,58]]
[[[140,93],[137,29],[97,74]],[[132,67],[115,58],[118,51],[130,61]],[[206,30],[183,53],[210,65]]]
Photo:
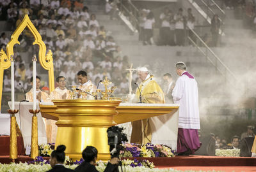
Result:
[[[1,18],[7,20],[12,31],[28,14],[40,32],[45,46],[52,50],[54,59],[54,76],[65,76],[67,85],[78,85],[77,71],[87,72],[89,80],[97,84],[104,76],[118,86],[117,92],[127,94],[127,68],[129,59],[122,54],[111,32],[100,25],[93,11],[89,11],[83,0],[22,0],[0,1]],[[113,8],[113,6],[111,6]],[[111,10],[111,19],[115,20]],[[10,41],[1,33],[1,48],[6,49]],[[29,57],[38,54],[38,46],[32,45],[33,34],[26,29],[19,37],[20,45],[14,49],[15,84],[30,89],[29,79],[32,75],[31,64],[22,61],[19,52],[28,52]],[[39,74],[40,75],[40,74]],[[46,83],[46,82],[45,82]],[[47,83],[45,84],[47,85]],[[4,73],[4,91],[10,91],[10,72]],[[44,82],[43,85],[44,86]],[[15,87],[21,91],[20,87]]]

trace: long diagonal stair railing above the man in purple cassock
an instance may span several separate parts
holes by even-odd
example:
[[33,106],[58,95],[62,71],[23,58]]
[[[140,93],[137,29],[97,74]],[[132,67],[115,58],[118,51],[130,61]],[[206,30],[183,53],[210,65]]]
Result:
[[[196,34],[196,32],[193,29],[191,29],[191,27],[189,27],[188,25],[187,25],[187,27],[188,27],[189,31],[191,31],[193,33],[193,36],[195,36],[200,41],[200,44],[202,45],[203,48],[205,48],[205,51],[203,50],[202,47],[198,46],[198,43],[195,42],[195,39],[193,40],[193,38],[188,36],[189,41],[191,41],[191,43],[193,43],[193,45],[195,45],[195,47],[198,50],[200,50],[200,52],[207,58],[207,60],[209,62],[211,62],[212,66],[214,66],[216,68],[216,70],[219,71],[221,73],[221,75],[223,75],[225,77],[225,80],[227,81],[228,78],[230,79],[229,76],[231,76],[232,78],[237,80],[236,75],[234,75],[234,73],[232,71],[230,71],[230,69],[224,64],[223,61],[221,61],[221,59],[218,57],[218,55],[216,55],[212,51],[212,49],[204,42],[204,40],[202,38],[200,38],[200,36],[198,36],[198,34]],[[211,54],[211,57],[208,52]]]

